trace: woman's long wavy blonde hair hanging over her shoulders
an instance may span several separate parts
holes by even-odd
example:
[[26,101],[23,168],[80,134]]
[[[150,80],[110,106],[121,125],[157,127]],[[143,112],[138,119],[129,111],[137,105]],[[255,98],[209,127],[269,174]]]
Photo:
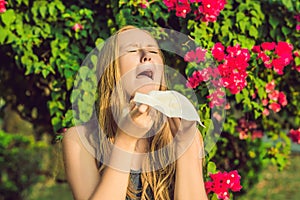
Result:
[[[113,112],[121,112],[118,108],[111,108],[111,105],[122,107],[126,105],[129,99],[124,94],[118,81],[121,78],[120,68],[118,63],[119,47],[117,44],[117,36],[119,33],[137,29],[134,26],[125,26],[120,29],[115,36],[104,44],[99,54],[98,73],[102,74],[98,85],[99,99],[97,101],[97,117],[100,127],[105,134],[99,134],[100,137],[100,152],[103,157],[109,156],[111,149],[108,142],[114,143],[115,134],[117,131],[117,124],[113,117]],[[150,34],[150,33],[149,33]],[[102,70],[102,71],[101,71]],[[161,87],[161,90],[166,88]],[[117,95],[112,95],[116,92]],[[141,193],[141,199],[150,199],[147,191],[153,193],[154,199],[168,200],[173,199],[174,183],[175,183],[175,162],[169,164],[169,160],[175,160],[175,151],[172,145],[173,136],[171,133],[168,120],[163,124],[163,127],[154,136],[148,138],[150,153],[143,161],[142,165],[142,190],[136,191],[133,183],[129,181],[127,196],[131,199],[136,198],[137,193]],[[168,146],[168,147],[167,147]],[[166,148],[167,147],[167,148]],[[160,150],[160,151],[157,151]],[[154,164],[159,164],[159,169],[156,169]],[[105,165],[99,168],[100,175],[105,169]]]

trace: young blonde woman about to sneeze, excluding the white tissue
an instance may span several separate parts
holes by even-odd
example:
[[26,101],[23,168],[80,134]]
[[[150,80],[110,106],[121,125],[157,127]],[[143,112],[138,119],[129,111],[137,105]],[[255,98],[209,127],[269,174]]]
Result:
[[166,90],[156,40],[126,26],[106,42],[98,60],[97,125],[72,127],[63,139],[74,198],[206,200],[195,123],[163,120],[160,112],[132,101],[137,92]]

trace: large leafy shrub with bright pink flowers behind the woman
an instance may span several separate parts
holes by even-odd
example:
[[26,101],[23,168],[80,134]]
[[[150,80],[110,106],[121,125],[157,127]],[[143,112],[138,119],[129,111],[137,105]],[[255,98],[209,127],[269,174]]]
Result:
[[[84,99],[91,96],[94,84],[88,76],[80,81],[89,84],[70,97],[78,70],[93,73],[79,66],[95,45],[126,24],[185,33],[197,47],[175,41],[187,54],[183,59],[166,55],[166,61],[186,74],[187,87],[199,98],[199,114],[206,125],[199,127],[201,133],[206,136],[220,129],[218,123],[224,121],[217,144],[206,152],[205,179],[211,182],[210,195],[228,198],[229,190],[238,189],[225,185],[222,193],[213,189],[214,180],[238,170],[235,177],[241,177],[241,193],[246,192],[264,163],[284,169],[290,142],[299,143],[299,11],[297,1],[284,0],[76,5],[61,0],[30,4],[0,0],[0,102],[30,120],[37,135],[57,132],[74,124],[72,103],[88,107]],[[226,113],[221,109],[211,114],[219,107]],[[75,117],[90,116],[79,112]],[[212,163],[224,172],[210,170]]]

